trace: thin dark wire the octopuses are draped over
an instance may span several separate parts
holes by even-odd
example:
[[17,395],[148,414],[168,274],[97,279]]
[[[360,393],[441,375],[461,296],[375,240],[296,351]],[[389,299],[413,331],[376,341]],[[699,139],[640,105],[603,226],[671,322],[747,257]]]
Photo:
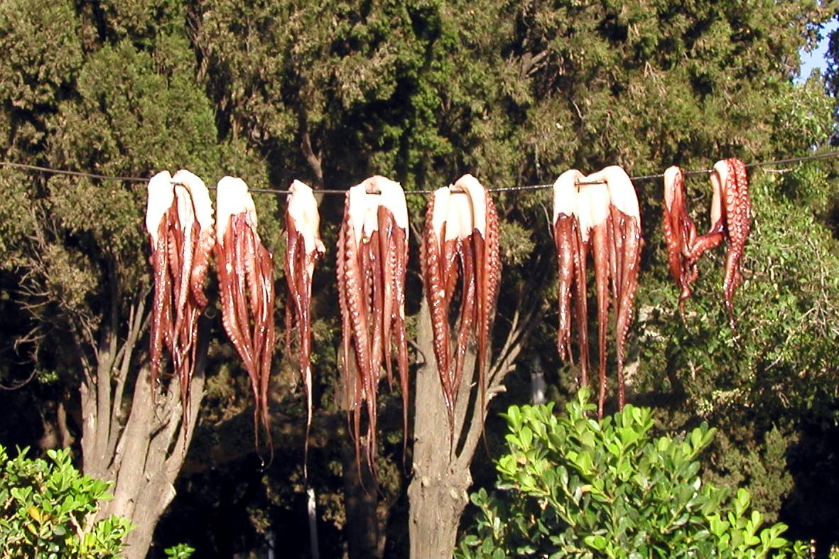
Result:
[[[831,151],[825,154],[811,154],[811,155],[804,155],[801,157],[791,157],[788,159],[774,159],[771,161],[759,161],[758,163],[749,163],[746,165],[747,168],[752,167],[763,167],[766,165],[789,165],[790,163],[800,163],[802,161],[809,161],[811,159],[829,159],[831,157],[839,156],[839,151]],[[23,163],[13,163],[11,161],[0,161],[0,167],[13,167],[16,169],[23,169],[23,170],[32,170],[38,171],[41,173],[50,173],[53,175],[70,175],[70,176],[79,176],[88,179],[97,179],[97,180],[122,180],[124,182],[149,182],[149,179],[144,179],[142,177],[137,176],[115,176],[115,175],[99,175],[97,173],[86,173],[84,171],[75,171],[75,170],[65,170],[65,169],[53,169],[51,167],[44,167],[41,165],[27,165]],[[708,175],[713,172],[712,169],[701,169],[701,170],[687,170],[683,171],[684,175]],[[633,182],[637,182],[639,180],[652,180],[652,179],[660,179],[664,177],[664,173],[658,173],[655,175],[638,175],[638,176],[631,176],[629,177],[630,180]],[[593,185],[593,184],[602,184],[602,181],[591,181],[591,182],[579,182],[579,185]],[[521,186],[501,186],[496,188],[487,188],[487,191],[490,192],[514,192],[514,191],[536,191],[545,188],[551,188],[553,184],[545,184],[545,185],[521,185]],[[215,186],[210,186],[209,188],[215,189]],[[276,188],[249,188],[251,192],[264,192],[268,194],[288,194],[288,190],[280,190]],[[315,194],[346,194],[346,190],[333,190],[333,189],[314,189],[313,192]],[[405,194],[432,194],[434,191],[406,191]]]

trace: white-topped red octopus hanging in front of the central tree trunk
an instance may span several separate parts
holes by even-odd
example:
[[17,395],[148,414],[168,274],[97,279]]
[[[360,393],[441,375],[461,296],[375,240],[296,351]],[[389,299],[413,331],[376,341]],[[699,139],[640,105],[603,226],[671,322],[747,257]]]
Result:
[[[454,432],[454,408],[467,344],[477,342],[478,383],[485,406],[488,344],[501,277],[498,213],[487,190],[472,175],[437,189],[425,213],[421,256],[425,296],[431,314],[434,351],[446,414]],[[460,264],[460,273],[458,273]],[[460,275],[461,306],[455,354],[451,354],[449,307]]]

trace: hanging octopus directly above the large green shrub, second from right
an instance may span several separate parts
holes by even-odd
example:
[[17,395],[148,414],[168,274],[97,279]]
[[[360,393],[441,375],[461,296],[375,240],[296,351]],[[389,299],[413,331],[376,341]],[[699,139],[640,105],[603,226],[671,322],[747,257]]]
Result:
[[641,254],[641,216],[638,197],[623,169],[610,166],[591,175],[565,171],[554,185],[554,241],[559,268],[559,317],[557,349],[560,358],[572,361],[571,299],[576,300],[581,362],[580,383],[588,382],[588,326],[586,259],[591,251],[597,291],[597,349],[600,391],[597,414],[602,417],[606,400],[606,337],[609,291],[615,310],[618,362],[618,408],[623,408],[623,360],[626,337],[633,320],[633,300],[638,288]]

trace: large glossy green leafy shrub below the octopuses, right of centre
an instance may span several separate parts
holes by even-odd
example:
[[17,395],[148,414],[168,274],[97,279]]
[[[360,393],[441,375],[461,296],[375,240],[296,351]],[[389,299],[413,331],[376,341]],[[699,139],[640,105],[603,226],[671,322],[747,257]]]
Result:
[[587,389],[567,406],[515,406],[496,494],[472,494],[476,525],[459,557],[804,557],[783,524],[763,526],[751,496],[703,483],[697,455],[714,430],[651,436],[652,411],[588,416]]

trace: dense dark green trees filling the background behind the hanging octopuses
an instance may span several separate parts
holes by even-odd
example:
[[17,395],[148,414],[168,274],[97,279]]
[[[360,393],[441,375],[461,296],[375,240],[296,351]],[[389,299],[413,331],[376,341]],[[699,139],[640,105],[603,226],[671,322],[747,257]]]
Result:
[[[466,172],[495,187],[550,183],[571,167],[618,164],[644,175],[673,164],[706,169],[729,156],[782,159],[826,147],[835,129],[836,68],[826,80],[793,78],[800,49],[815,44],[836,8],[813,0],[7,0],[0,159],[138,177],[188,168],[211,185],[228,174],[277,189],[294,178],[344,188],[381,174],[407,191]],[[654,407],[660,431],[716,427],[703,472],[747,487],[770,521],[784,520],[791,535],[824,550],[839,533],[835,170],[826,160],[784,171],[751,172],[755,225],[736,332],[719,301],[720,254],[702,264],[687,320],[679,320],[659,226],[661,185],[638,182],[646,242],[628,392]],[[287,556],[307,556],[305,409],[293,356],[280,347],[274,363],[276,457],[263,468],[247,380],[211,308],[194,381],[197,426],[181,436],[167,407],[178,400],[174,387],[164,384],[157,410],[146,405],[143,184],[3,167],[0,185],[0,375],[6,387],[26,383],[0,394],[0,442],[71,447],[86,473],[116,481],[109,512],[140,526],[135,550],[189,541],[200,556],[232,556],[274,541]],[[706,227],[705,179],[687,189]],[[279,255],[284,200],[263,194],[256,203],[260,234]],[[409,204],[418,230],[425,199],[409,196]],[[471,474],[471,454],[458,463],[462,488],[472,478],[492,483],[498,411],[529,400],[531,358],[541,359],[551,399],[576,389],[574,367],[559,362],[554,346],[550,191],[499,195],[496,205],[504,295],[495,378],[506,391],[492,400],[487,451],[477,450]],[[326,197],[320,211],[330,247],[340,198]],[[408,313],[419,337],[415,240],[411,250]],[[315,273],[315,293],[308,483],[321,555],[407,556],[414,478],[412,455],[401,459],[399,394],[384,398],[377,490],[365,491],[336,396],[332,254]],[[507,361],[506,342],[515,349]],[[414,358],[417,382],[435,374],[420,353]],[[433,392],[417,394],[412,415]],[[418,415],[414,433],[428,421]],[[141,488],[150,495],[142,503],[120,497]]]

